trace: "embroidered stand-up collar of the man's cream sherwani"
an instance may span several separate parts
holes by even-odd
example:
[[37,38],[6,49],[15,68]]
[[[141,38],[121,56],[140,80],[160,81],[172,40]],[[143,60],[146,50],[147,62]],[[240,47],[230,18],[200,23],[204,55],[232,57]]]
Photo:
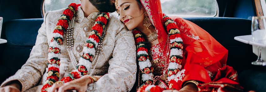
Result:
[[[97,15],[98,15],[99,13],[100,13],[100,12],[92,12],[87,18],[90,19],[90,20],[96,20]],[[83,10],[81,9],[80,6],[79,6],[79,8],[78,8],[77,17],[78,17],[80,20],[83,20],[83,19],[84,19],[84,12],[83,12]]]

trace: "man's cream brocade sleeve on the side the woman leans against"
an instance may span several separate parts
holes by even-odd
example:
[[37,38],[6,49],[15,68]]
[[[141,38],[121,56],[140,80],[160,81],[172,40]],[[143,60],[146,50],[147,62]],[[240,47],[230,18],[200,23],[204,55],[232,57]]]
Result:
[[[132,31],[123,24],[115,37],[113,55],[109,60],[108,74],[97,82],[90,84],[89,91],[126,92],[130,91],[136,81],[136,46]],[[90,87],[93,88],[90,90]]]

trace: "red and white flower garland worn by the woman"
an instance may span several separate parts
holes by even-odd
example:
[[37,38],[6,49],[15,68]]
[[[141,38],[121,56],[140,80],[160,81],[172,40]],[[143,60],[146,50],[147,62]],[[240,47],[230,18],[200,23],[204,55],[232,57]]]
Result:
[[[170,56],[169,56],[169,65],[168,65],[168,85],[169,89],[176,89],[177,87],[177,81],[178,77],[176,75],[181,75],[179,71],[182,68],[181,62],[182,62],[182,54],[183,54],[183,40],[180,35],[180,31],[178,30],[178,27],[176,25],[176,22],[174,22],[170,17],[163,14],[163,23],[165,25],[165,29],[168,32],[169,40],[170,40]],[[135,42],[137,45],[137,58],[139,62],[140,69],[142,71],[142,83],[145,85],[152,85],[150,81],[153,80],[153,67],[151,67],[151,62],[148,58],[148,50],[146,48],[146,41],[143,38],[143,35],[138,30],[133,30],[133,34],[135,37]],[[151,72],[149,72],[150,70]],[[144,72],[143,72],[144,71]],[[182,71],[183,72],[183,71]],[[142,84],[142,85],[144,85]],[[153,85],[154,86],[154,85]],[[142,86],[139,90],[143,90]],[[145,91],[144,91],[145,92]],[[154,91],[149,91],[154,92]]]

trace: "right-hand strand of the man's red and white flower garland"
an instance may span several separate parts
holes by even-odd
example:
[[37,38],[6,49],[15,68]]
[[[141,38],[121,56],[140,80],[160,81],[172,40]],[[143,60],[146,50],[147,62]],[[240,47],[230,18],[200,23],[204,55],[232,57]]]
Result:
[[83,49],[83,55],[79,58],[79,64],[76,70],[69,73],[67,77],[61,79],[63,83],[78,79],[88,74],[88,69],[91,66],[92,59],[95,55],[95,49],[98,46],[103,30],[109,19],[108,12],[101,12],[95,20],[94,26],[91,28],[90,36],[88,37]]

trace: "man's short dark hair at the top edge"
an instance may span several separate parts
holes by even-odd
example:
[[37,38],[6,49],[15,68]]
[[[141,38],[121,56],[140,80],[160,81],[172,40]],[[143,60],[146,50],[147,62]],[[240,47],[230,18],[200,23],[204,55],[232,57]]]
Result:
[[100,12],[115,12],[114,0],[89,0]]

